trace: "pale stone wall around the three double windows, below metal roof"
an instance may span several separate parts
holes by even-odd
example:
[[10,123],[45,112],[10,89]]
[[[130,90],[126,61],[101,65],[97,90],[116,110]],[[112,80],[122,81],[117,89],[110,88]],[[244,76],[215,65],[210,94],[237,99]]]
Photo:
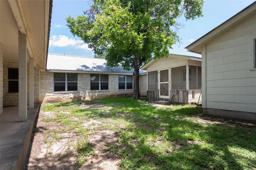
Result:
[[90,74],[77,74],[77,91],[54,92],[52,72],[41,72],[41,102],[83,100],[102,97],[131,96],[133,90],[118,90],[118,75],[109,74],[108,90],[90,90]]

